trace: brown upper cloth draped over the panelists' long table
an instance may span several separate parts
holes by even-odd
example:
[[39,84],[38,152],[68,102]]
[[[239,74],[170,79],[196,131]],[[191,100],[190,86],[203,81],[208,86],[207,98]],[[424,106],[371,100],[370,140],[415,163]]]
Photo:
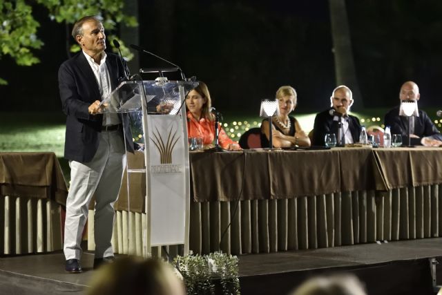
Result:
[[[196,202],[285,199],[436,184],[442,183],[441,157],[442,149],[425,147],[191,152],[191,198]],[[143,154],[135,153],[128,160],[140,166]],[[124,180],[117,209],[144,211],[144,177],[131,176],[130,208]]]

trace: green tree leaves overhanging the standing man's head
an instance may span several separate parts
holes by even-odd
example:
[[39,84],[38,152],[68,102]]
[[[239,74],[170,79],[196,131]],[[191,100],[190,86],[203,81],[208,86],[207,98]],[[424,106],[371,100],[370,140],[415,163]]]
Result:
[[[0,0],[0,59],[10,55],[19,66],[32,66],[39,63],[32,50],[41,48],[44,43],[37,36],[39,22],[32,15],[32,6],[25,0]],[[29,1],[31,2],[31,1]],[[37,0],[37,4],[48,9],[48,17],[57,23],[70,25],[86,15],[102,17],[104,28],[109,39],[116,38],[117,24],[138,26],[137,19],[125,15],[124,0]],[[74,40],[72,40],[74,42]],[[121,44],[122,53],[130,60],[133,55]],[[115,48],[113,48],[115,50]],[[79,46],[70,46],[70,51],[79,51]],[[7,84],[0,78],[0,85]]]

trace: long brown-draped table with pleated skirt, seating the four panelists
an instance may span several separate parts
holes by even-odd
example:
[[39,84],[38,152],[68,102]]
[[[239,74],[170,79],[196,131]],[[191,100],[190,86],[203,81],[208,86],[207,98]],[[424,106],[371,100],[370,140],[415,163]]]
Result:
[[[190,249],[245,254],[440,236],[441,156],[423,147],[192,152]],[[144,185],[137,175],[129,201],[125,190],[116,204],[119,253],[148,251],[135,230]]]

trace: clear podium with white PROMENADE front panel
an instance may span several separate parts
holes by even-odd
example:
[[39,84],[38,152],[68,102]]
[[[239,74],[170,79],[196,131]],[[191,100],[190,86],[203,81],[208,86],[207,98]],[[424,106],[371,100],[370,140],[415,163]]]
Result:
[[[126,155],[131,142],[135,153],[144,154],[144,163],[127,161],[127,186],[122,189],[127,189],[131,211],[131,175],[145,174],[146,221],[137,230],[144,231],[142,247],[147,256],[151,247],[163,245],[184,245],[184,254],[189,252],[190,172],[184,100],[196,86],[198,82],[164,78],[127,81],[102,101],[103,113],[120,114],[124,137],[129,139],[125,141]],[[128,228],[128,232],[134,230]]]

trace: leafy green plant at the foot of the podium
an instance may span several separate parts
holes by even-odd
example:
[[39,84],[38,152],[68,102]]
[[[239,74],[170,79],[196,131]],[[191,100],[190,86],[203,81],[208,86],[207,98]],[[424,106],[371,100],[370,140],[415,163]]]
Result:
[[177,265],[184,278],[187,294],[215,294],[213,279],[220,278],[222,294],[240,294],[238,258],[221,252],[209,255],[177,256]]

